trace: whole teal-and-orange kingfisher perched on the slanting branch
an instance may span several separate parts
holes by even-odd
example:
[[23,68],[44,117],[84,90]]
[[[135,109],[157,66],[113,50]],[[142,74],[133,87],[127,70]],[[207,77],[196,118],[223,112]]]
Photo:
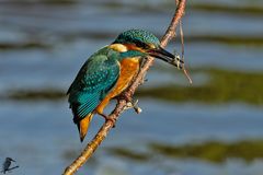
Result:
[[84,62],[67,92],[81,142],[93,115],[112,120],[103,113],[104,108],[128,88],[147,56],[182,68],[180,57],[164,50],[160,40],[145,30],[121,33],[111,45],[101,48]]

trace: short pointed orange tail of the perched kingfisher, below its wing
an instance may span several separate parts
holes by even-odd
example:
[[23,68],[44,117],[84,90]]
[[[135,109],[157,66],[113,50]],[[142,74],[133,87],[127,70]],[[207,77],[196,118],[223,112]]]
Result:
[[81,119],[79,122],[77,122],[81,142],[84,140],[84,137],[87,135],[87,131],[89,129],[89,126],[90,126],[93,115],[94,115],[93,113],[90,113],[83,119]]

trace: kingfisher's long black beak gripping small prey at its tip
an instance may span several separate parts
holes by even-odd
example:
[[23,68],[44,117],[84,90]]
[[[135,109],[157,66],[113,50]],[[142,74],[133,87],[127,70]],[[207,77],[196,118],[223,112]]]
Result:
[[179,69],[182,69],[183,61],[180,59],[180,56],[179,55],[174,56],[174,55],[170,54],[169,51],[167,51],[165,49],[163,49],[162,47],[150,49],[150,50],[148,50],[148,54],[151,57],[159,58],[172,66],[178,67]]

